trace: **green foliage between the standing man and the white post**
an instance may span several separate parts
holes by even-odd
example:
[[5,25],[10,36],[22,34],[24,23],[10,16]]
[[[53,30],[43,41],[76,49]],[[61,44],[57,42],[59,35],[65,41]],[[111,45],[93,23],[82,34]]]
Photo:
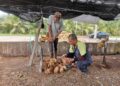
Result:
[[78,23],[72,20],[65,20],[64,26],[67,32],[75,32],[78,35],[87,35],[94,30],[93,24]]

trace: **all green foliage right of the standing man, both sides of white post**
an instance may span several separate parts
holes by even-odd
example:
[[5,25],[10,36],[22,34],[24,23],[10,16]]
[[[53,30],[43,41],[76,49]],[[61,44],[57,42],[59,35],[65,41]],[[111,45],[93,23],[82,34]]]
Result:
[[[75,32],[78,35],[88,35],[94,32],[95,25],[88,23],[76,23],[72,20],[65,21],[65,30],[68,32]],[[107,32],[111,36],[120,36],[120,20],[103,21],[100,20],[98,31]]]

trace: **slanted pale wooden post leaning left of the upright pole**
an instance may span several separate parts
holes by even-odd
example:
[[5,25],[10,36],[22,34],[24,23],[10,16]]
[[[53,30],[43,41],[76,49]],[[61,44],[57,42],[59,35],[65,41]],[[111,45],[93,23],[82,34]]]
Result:
[[32,65],[32,62],[33,62],[33,58],[34,58],[34,55],[35,55],[35,51],[36,51],[36,48],[37,48],[37,45],[38,45],[38,38],[39,38],[39,34],[40,34],[40,29],[41,29],[41,27],[38,28],[38,30],[36,30],[35,42],[34,42],[32,54],[31,54],[31,56],[30,56],[30,60],[29,60],[28,66],[31,66],[31,65]]

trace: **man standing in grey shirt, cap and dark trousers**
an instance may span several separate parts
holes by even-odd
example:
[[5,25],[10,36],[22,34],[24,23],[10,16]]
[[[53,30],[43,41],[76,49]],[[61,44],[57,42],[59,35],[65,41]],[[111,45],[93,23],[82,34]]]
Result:
[[54,15],[50,15],[48,19],[50,57],[57,57],[58,36],[63,29],[63,20],[61,16],[60,12],[55,12]]

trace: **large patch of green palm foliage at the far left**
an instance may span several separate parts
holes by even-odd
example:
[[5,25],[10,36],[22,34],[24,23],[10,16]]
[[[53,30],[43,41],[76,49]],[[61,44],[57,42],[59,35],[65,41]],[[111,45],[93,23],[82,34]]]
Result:
[[36,24],[22,21],[13,15],[0,19],[1,34],[34,34],[36,28]]

